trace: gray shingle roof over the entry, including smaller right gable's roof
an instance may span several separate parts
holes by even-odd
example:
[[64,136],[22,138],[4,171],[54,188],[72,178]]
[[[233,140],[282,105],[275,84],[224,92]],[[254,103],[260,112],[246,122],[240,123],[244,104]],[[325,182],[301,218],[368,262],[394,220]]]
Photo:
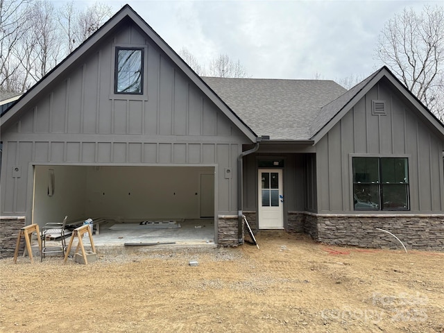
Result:
[[382,67],[345,90],[327,80],[211,78],[203,80],[259,135],[275,141],[318,142],[379,80],[386,78],[438,133],[439,121],[396,78]]

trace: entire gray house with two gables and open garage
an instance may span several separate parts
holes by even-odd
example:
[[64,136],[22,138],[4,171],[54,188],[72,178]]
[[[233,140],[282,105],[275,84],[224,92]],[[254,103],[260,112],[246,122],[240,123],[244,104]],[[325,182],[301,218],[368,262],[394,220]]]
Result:
[[3,253],[67,214],[444,246],[444,126],[386,67],[348,91],[199,78],[125,6],[0,120]]

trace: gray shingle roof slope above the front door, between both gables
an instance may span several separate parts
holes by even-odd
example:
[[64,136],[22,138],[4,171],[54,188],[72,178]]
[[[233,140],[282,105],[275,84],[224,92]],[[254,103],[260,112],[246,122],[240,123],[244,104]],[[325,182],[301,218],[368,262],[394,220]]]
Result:
[[346,92],[332,80],[203,80],[257,135],[274,140],[310,139],[321,108]]

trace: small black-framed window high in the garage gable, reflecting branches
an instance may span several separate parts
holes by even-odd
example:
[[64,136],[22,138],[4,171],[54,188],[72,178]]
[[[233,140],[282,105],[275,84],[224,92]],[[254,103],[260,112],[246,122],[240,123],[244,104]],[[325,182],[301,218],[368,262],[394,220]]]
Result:
[[116,48],[114,94],[143,94],[144,50]]

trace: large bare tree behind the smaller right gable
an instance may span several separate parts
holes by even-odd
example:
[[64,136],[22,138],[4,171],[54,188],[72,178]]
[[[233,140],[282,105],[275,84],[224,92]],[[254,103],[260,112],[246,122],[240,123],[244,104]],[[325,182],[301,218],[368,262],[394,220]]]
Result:
[[393,73],[441,121],[444,120],[444,9],[404,9],[388,20],[375,48],[375,58]]

